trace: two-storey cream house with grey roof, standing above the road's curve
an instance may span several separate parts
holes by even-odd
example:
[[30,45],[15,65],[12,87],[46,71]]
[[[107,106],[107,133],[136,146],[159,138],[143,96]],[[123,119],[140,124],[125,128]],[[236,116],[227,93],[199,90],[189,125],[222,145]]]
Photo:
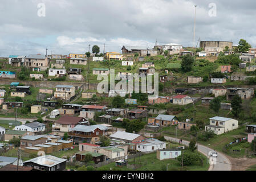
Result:
[[210,118],[210,125],[205,126],[205,131],[214,131],[216,135],[221,135],[227,131],[238,128],[238,121],[231,118],[213,117]]

